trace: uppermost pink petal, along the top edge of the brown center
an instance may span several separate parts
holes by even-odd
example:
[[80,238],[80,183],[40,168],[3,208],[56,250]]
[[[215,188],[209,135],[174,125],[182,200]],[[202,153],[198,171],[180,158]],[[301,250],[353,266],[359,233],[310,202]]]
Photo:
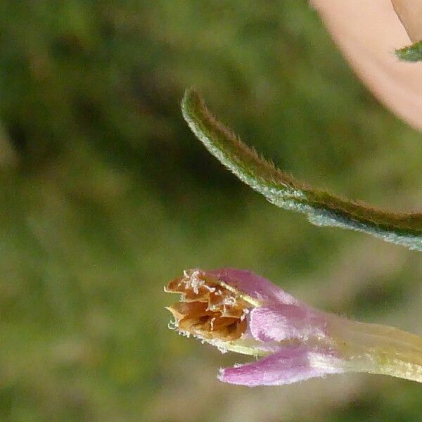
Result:
[[230,286],[247,293],[252,298],[264,299],[271,302],[299,304],[300,302],[284,290],[275,286],[271,281],[243,269],[222,268],[207,271]]

